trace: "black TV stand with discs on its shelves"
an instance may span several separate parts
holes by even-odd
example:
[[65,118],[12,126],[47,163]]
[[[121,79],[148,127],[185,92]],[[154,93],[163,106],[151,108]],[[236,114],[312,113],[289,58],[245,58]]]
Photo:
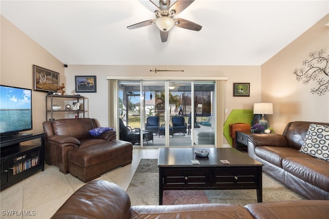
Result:
[[[41,141],[33,143],[33,140],[38,138]],[[32,143],[28,142],[28,145],[21,145],[25,141]],[[1,137],[1,190],[39,170],[44,171],[44,145],[45,136],[43,133],[20,133],[10,137]]]

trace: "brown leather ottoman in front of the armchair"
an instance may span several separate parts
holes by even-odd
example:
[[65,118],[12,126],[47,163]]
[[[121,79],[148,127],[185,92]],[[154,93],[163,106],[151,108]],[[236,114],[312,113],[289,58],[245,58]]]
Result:
[[133,145],[112,140],[68,152],[68,171],[83,182],[96,179],[109,170],[132,163]]

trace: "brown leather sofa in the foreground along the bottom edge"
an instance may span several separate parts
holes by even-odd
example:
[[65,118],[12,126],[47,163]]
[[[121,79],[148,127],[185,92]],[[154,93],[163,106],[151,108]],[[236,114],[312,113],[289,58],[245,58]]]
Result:
[[60,218],[327,218],[329,200],[257,203],[131,206],[128,194],[116,184],[94,180],[72,194],[51,217]]

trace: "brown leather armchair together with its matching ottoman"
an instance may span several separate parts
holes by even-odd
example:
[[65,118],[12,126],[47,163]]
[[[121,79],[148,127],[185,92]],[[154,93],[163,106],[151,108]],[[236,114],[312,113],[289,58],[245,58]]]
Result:
[[98,136],[89,134],[99,127],[91,118],[43,122],[46,136],[45,162],[86,182],[108,170],[132,162],[133,145],[116,139],[115,130]]

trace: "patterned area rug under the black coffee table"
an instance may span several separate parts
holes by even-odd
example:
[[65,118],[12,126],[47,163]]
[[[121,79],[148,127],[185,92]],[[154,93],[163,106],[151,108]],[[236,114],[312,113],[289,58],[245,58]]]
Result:
[[[159,169],[157,159],[141,159],[127,189],[132,205],[159,204]],[[263,172],[263,202],[304,199],[276,179]],[[247,205],[257,203],[256,190],[165,190],[163,205],[226,203]]]

